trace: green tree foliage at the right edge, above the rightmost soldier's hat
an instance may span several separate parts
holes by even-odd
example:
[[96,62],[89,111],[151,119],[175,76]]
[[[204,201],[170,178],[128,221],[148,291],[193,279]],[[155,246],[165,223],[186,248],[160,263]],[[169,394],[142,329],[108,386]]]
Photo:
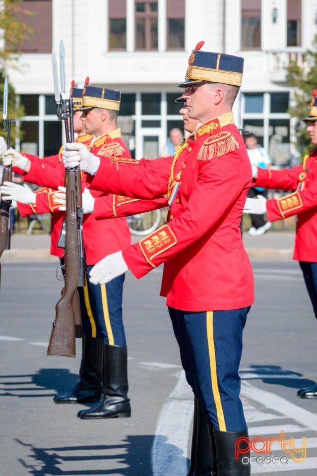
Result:
[[296,60],[290,61],[287,69],[287,81],[291,86],[294,86],[292,106],[287,112],[298,119],[296,145],[302,155],[305,155],[312,144],[302,119],[309,114],[312,93],[317,88],[317,35],[312,49],[304,53],[301,65]]

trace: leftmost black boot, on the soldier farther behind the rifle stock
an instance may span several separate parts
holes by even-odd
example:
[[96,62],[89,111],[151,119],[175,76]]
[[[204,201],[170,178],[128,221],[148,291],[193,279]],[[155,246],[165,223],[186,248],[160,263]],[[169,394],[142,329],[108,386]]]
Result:
[[95,403],[102,393],[103,342],[99,338],[82,336],[82,357],[79,380],[66,392],[55,395],[55,403]]

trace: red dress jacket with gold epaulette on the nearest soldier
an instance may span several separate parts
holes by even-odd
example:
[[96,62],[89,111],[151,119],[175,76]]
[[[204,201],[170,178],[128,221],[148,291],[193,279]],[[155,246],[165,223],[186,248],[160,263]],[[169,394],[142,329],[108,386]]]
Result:
[[167,193],[168,223],[123,251],[135,277],[164,263],[161,295],[188,311],[250,306],[254,280],[240,222],[251,164],[233,114],[201,124],[174,158],[101,158],[91,188],[134,198]]

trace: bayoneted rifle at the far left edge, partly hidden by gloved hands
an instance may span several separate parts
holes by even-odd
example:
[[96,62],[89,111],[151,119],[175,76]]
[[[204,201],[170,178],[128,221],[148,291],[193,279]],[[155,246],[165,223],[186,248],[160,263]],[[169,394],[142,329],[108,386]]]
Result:
[[[11,139],[11,124],[15,123],[15,120],[7,118],[8,107],[8,80],[5,76],[3,86],[3,131],[7,133],[7,147],[10,147]],[[1,185],[4,181],[12,181],[12,166],[6,166],[3,169]],[[0,258],[5,249],[10,249],[11,242],[11,230],[10,230],[10,207],[11,202],[6,200],[0,200]],[[0,263],[0,280],[1,280],[1,263]]]

